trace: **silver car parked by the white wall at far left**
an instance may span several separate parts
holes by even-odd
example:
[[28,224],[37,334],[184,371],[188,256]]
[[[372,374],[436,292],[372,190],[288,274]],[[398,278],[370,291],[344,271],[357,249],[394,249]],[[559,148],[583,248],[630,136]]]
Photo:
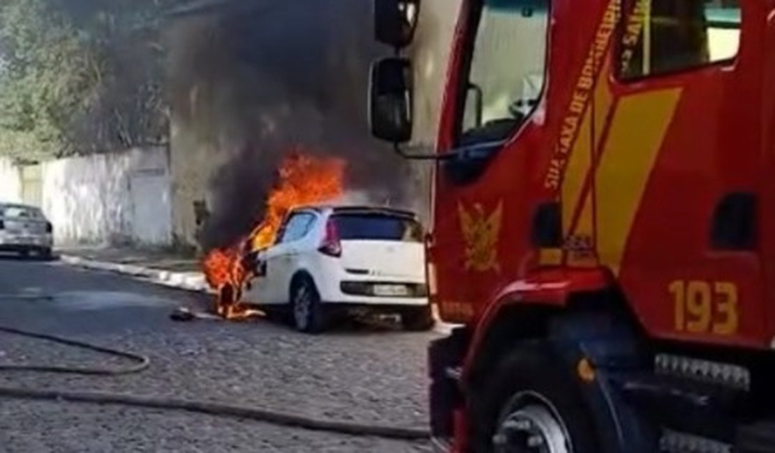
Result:
[[51,257],[53,226],[35,206],[0,203],[0,252]]

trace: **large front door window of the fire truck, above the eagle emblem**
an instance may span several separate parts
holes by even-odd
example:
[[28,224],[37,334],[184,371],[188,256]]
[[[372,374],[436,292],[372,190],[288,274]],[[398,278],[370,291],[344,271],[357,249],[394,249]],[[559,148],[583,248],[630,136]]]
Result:
[[549,0],[480,0],[460,145],[508,138],[543,92]]

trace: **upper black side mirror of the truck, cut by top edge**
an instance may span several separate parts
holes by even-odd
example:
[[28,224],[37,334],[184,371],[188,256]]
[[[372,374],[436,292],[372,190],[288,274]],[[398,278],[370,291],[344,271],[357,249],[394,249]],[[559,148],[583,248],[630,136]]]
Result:
[[374,0],[374,35],[397,49],[415,38],[420,0]]

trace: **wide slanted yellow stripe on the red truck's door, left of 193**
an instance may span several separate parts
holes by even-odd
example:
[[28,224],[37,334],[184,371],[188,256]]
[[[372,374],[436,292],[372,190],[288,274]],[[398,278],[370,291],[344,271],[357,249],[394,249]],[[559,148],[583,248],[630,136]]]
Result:
[[615,274],[680,94],[675,88],[629,95],[616,107],[595,181],[598,257]]

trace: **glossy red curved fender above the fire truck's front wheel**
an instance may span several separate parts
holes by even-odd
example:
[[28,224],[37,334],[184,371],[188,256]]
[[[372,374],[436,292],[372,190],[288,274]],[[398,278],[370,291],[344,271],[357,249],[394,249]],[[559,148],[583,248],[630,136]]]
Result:
[[539,311],[546,311],[547,308],[559,310],[568,304],[574,293],[605,291],[614,284],[611,272],[603,267],[558,267],[533,271],[526,278],[505,285],[487,304],[474,325],[470,345],[463,359],[463,380],[467,380],[480,348],[486,346],[487,332],[508,308],[518,305]]

